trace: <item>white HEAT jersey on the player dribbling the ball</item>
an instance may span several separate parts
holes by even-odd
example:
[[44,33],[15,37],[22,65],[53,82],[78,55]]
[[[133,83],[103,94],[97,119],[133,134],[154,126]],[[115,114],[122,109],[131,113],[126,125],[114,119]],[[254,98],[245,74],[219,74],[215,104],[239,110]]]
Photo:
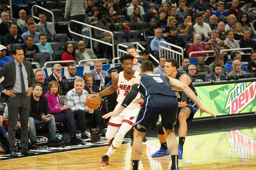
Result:
[[[122,103],[123,100],[125,99],[125,96],[131,91],[131,87],[132,87],[132,82],[133,80],[139,76],[140,73],[138,71],[135,71],[134,73],[134,77],[132,79],[130,79],[129,81],[127,81],[127,79],[125,79],[124,77],[124,72],[121,71],[119,73],[119,80],[118,80],[118,94],[117,94],[117,99],[116,101],[119,103]],[[137,94],[137,96],[135,97],[135,99],[131,102],[130,105],[128,105],[128,108],[140,108],[140,104],[139,103],[133,103],[135,100],[140,99],[140,93]]]

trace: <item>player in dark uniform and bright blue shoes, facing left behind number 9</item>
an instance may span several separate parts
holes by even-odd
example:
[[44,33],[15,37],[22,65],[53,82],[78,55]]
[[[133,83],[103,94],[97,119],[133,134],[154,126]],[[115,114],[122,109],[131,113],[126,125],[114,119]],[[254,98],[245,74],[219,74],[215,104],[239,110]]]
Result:
[[[197,92],[195,90],[194,85],[192,84],[190,77],[181,71],[177,71],[177,68],[178,68],[178,62],[176,59],[167,59],[165,63],[164,74],[168,77],[179,80],[185,85],[188,85],[189,88],[191,88],[191,90],[193,91],[193,93],[197,96]],[[178,122],[180,124],[179,131],[178,131],[179,132],[179,144],[178,144],[179,157],[178,158],[183,159],[183,144],[185,142],[185,137],[187,132],[186,122],[192,121],[195,112],[198,110],[198,106],[191,99],[186,98],[186,96],[183,95],[182,91],[179,91],[176,89],[173,89],[173,90],[177,95],[177,99],[178,99],[177,104],[179,106],[177,109]],[[182,98],[185,98],[185,99],[182,99]],[[177,127],[177,123],[176,123],[176,127]],[[166,135],[163,131],[163,126],[161,124],[157,128],[157,133],[158,133],[158,139],[160,141],[161,147],[160,147],[160,150],[153,153],[151,156],[161,157],[161,156],[170,155],[169,150],[167,148]]]

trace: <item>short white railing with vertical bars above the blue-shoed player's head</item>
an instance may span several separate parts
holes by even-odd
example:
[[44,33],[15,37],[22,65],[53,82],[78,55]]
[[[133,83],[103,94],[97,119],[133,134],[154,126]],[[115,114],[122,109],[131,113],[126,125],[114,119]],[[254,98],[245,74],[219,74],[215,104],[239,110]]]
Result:
[[[170,45],[173,48],[179,49],[181,52],[163,47],[161,44]],[[166,57],[166,59],[171,59],[171,58],[176,59],[178,61],[178,63],[181,63],[182,59],[184,58],[184,51],[183,51],[183,48],[181,48],[177,45],[173,45],[173,44],[165,42],[165,41],[160,41],[159,42],[159,56],[160,57],[164,56],[164,57]]]

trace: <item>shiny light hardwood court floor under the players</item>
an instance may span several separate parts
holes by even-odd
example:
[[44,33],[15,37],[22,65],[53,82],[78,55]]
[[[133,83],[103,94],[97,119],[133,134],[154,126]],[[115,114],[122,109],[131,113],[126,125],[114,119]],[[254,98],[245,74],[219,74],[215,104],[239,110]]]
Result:
[[[140,170],[170,170],[170,156],[151,158],[157,139],[143,145]],[[108,147],[97,147],[0,161],[0,169],[26,170],[130,170],[131,145],[122,144],[111,156],[110,166],[101,166]],[[256,128],[186,137],[180,170],[256,170]]]

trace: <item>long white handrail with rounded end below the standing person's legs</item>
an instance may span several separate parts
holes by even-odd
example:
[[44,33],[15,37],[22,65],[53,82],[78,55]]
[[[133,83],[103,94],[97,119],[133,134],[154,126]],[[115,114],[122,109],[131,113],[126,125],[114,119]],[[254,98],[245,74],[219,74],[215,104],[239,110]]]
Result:
[[[78,33],[76,33],[76,32],[71,31],[71,30],[70,30],[70,23],[71,23],[71,22],[78,23],[78,24],[81,24],[81,25],[84,25],[84,26],[89,27],[90,37],[85,36],[85,35],[83,35],[83,34],[78,34]],[[112,44],[110,44],[110,43],[108,43],[108,42],[104,42],[104,41],[101,41],[101,40],[98,40],[98,39],[93,38],[93,37],[92,37],[92,28],[93,28],[93,29],[98,29],[98,30],[100,30],[100,31],[104,31],[104,32],[107,32],[107,33],[110,33],[110,34],[111,34],[111,39],[112,39]],[[84,37],[84,38],[89,39],[89,40],[90,40],[90,47],[91,47],[92,50],[93,50],[93,41],[100,42],[100,43],[102,43],[102,44],[111,46],[111,47],[112,47],[112,51],[113,51],[113,53],[112,53],[112,54],[113,54],[113,58],[115,57],[114,36],[113,36],[113,33],[112,33],[111,31],[108,31],[108,30],[105,30],[105,29],[102,29],[102,28],[98,28],[98,27],[95,27],[95,26],[91,26],[91,25],[86,24],[86,23],[81,23],[81,22],[76,21],[76,20],[70,20],[70,21],[68,22],[68,31],[70,31],[70,33],[72,33],[72,34],[74,34],[74,35],[77,35],[77,36],[80,36],[80,37]]]

